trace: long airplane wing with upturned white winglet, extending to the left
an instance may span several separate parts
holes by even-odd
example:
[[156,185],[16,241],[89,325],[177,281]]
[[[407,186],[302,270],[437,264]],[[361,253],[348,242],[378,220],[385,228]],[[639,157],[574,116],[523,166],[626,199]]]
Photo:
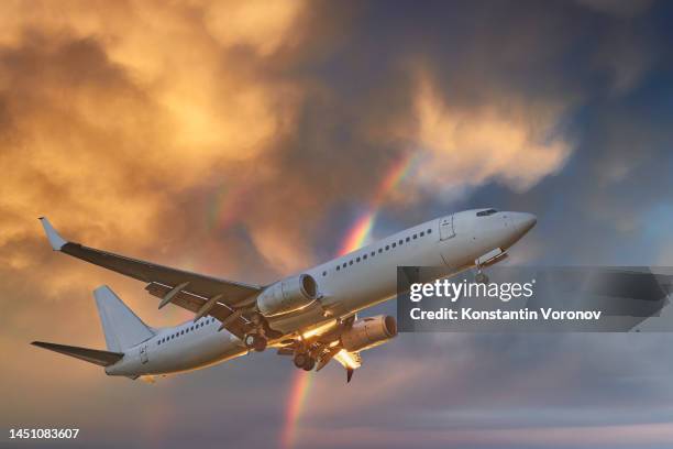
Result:
[[146,283],[145,289],[151,295],[163,298],[159,308],[173,303],[197,316],[211,315],[236,337],[242,337],[249,330],[250,322],[238,309],[254,304],[254,297],[262,292],[262,286],[172,269],[69,242],[56,232],[46,218],[40,220],[54,251]]

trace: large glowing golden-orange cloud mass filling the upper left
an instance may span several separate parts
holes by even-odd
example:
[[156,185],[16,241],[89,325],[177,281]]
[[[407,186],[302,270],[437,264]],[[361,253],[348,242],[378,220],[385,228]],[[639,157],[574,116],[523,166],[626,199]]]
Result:
[[25,219],[49,213],[81,238],[93,229],[90,243],[104,244],[106,231],[150,241],[180,191],[272,151],[296,96],[263,74],[257,52],[280,45],[298,4],[279,2],[278,14],[265,14],[262,41],[245,33],[260,24],[258,6],[236,3],[222,17],[225,4],[209,4],[205,17],[223,28],[235,22],[222,43],[186,6],[73,4],[73,15],[49,2],[5,6],[3,17],[23,20],[0,39],[11,43],[1,51],[9,144],[0,157],[16,167],[2,186],[2,239],[36,237]]

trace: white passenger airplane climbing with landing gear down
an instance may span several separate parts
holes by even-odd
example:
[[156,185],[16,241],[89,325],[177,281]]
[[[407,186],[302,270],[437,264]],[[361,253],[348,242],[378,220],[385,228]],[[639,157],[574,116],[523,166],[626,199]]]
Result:
[[439,266],[442,277],[483,269],[537,222],[525,212],[472,209],[437,218],[269,285],[225,281],[66,241],[40,219],[54,251],[145,283],[150,295],[195,314],[175,327],[145,325],[108,287],[93,291],[107,350],[43,341],[32,344],[103,366],[108,375],[144,379],[192,371],[276,348],[298,369],[341,363],[350,382],[361,352],[397,335],[391,316],[357,314],[397,295],[397,266]]

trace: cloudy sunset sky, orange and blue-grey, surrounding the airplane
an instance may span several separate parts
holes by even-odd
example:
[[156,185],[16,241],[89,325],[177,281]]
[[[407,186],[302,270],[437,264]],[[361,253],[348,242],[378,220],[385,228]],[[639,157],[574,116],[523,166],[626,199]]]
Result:
[[1,2],[3,445],[671,447],[668,333],[400,335],[347,385],[311,374],[291,416],[298,371],[271,351],[150,385],[29,342],[104,348],[102,284],[152,326],[190,318],[53,253],[41,216],[258,284],[334,256],[363,216],[367,242],[490,206],[538,216],[509,264],[673,265],[672,20],[666,1]]

